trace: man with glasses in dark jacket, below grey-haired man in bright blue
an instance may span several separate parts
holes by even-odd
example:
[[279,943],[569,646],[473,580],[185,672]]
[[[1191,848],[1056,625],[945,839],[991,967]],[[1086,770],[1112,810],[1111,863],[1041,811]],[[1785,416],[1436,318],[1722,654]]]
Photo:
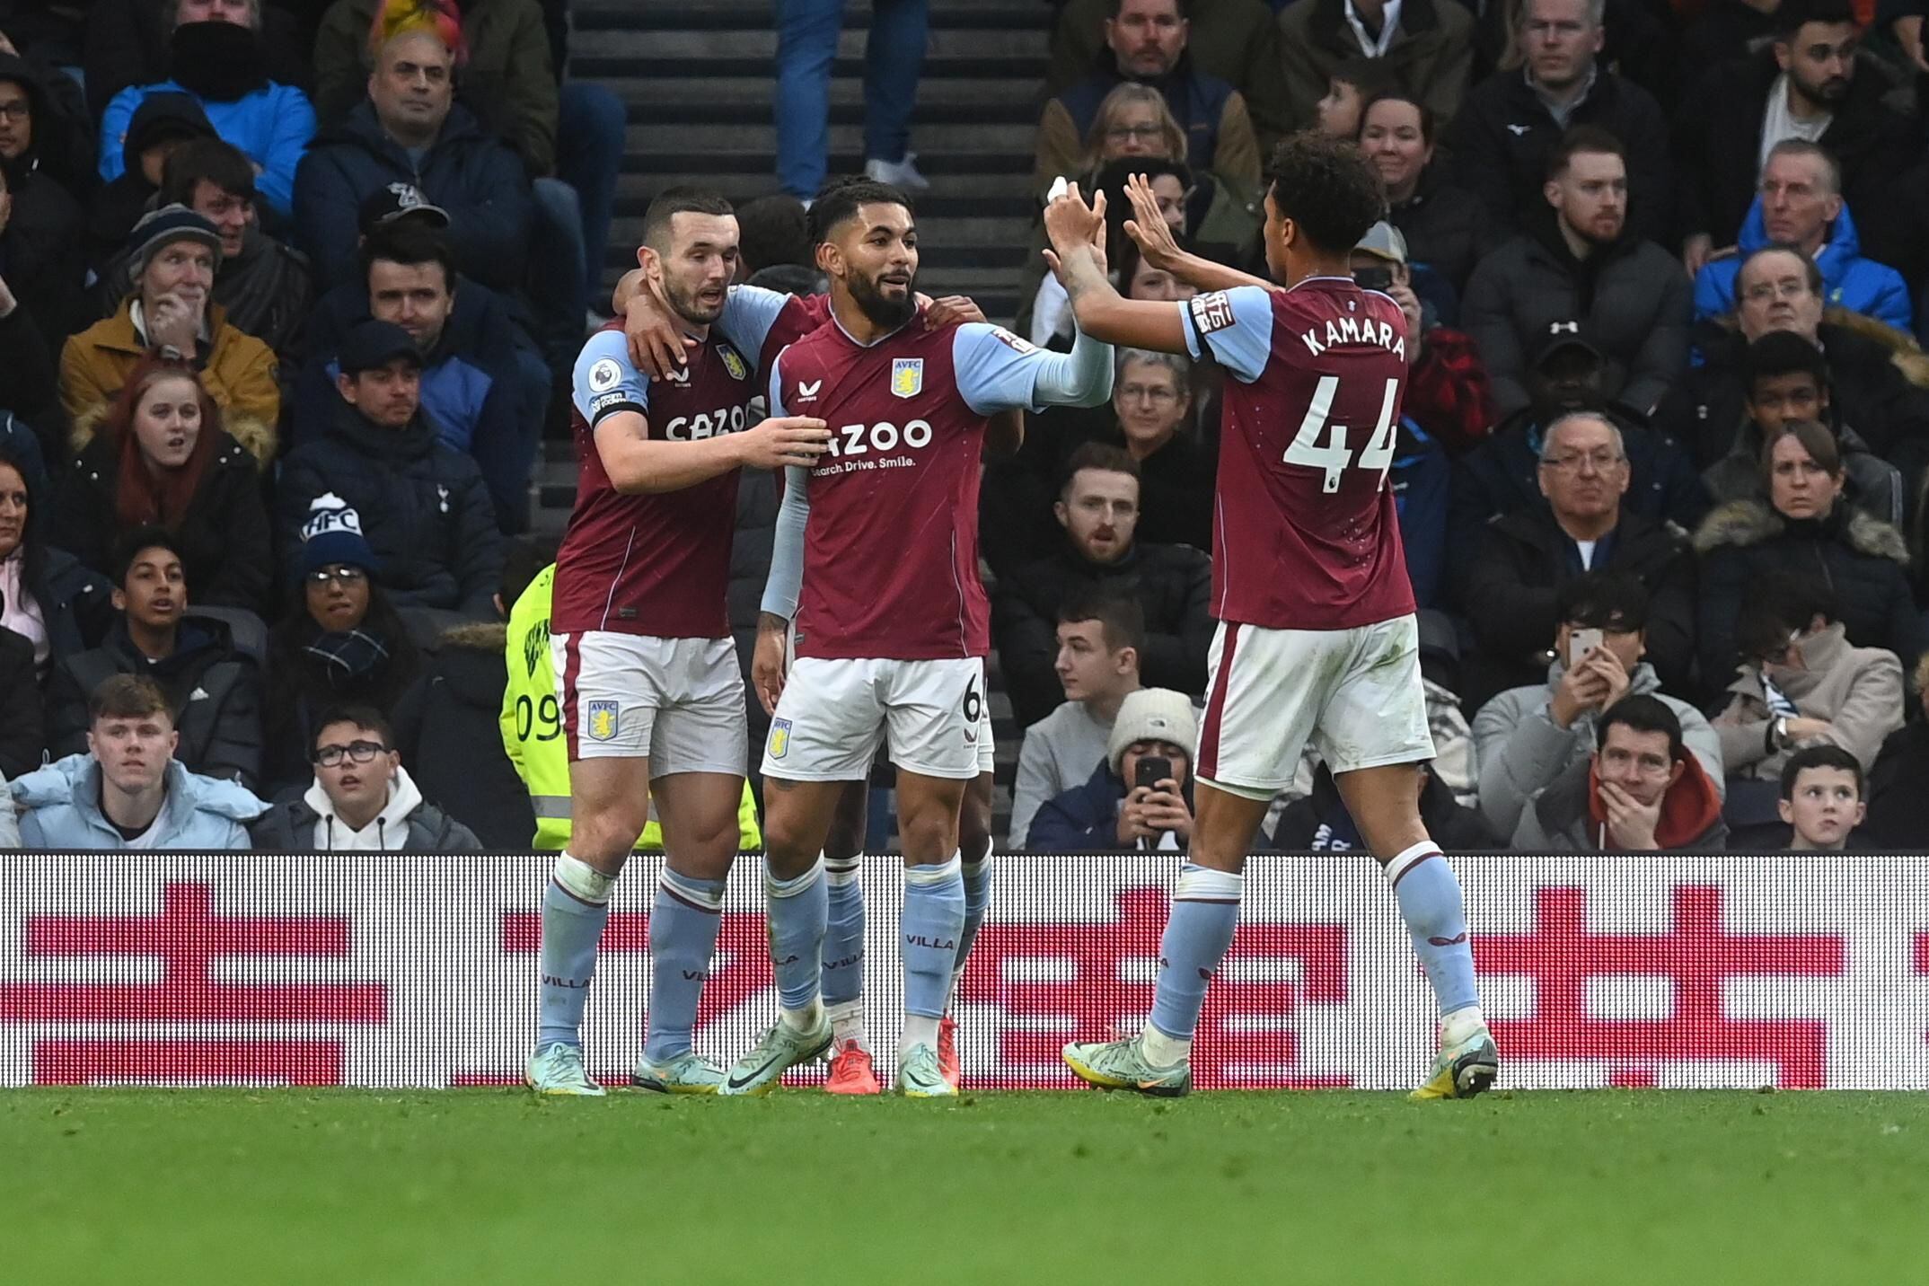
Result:
[[1688,368],[1655,411],[1655,428],[1682,443],[1696,469],[1734,447],[1748,415],[1742,355],[1769,332],[1802,335],[1829,362],[1838,424],[1852,424],[1871,451],[1900,463],[1929,442],[1929,395],[1892,359],[1898,349],[1823,320],[1821,266],[1794,247],[1769,245],[1736,272],[1734,332],[1701,328],[1701,366]]

